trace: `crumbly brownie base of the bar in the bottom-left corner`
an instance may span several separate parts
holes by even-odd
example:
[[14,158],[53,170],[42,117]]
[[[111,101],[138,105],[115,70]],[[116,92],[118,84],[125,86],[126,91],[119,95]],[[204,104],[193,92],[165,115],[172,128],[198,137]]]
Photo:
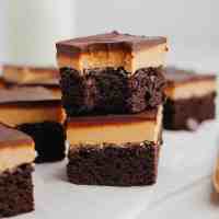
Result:
[[34,210],[32,171],[32,165],[25,164],[0,174],[0,217]]

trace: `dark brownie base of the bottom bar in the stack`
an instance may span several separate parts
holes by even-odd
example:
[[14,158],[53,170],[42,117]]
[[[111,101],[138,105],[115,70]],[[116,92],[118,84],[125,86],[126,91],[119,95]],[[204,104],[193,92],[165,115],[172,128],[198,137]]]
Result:
[[137,186],[157,181],[159,146],[152,142],[71,149],[67,173],[74,184]]

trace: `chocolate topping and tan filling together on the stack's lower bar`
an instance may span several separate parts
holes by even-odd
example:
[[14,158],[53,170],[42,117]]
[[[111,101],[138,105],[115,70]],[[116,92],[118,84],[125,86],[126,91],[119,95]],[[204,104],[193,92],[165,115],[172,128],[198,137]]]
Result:
[[136,115],[72,117],[67,123],[67,139],[71,147],[91,143],[126,143],[152,141],[161,134],[162,107]]

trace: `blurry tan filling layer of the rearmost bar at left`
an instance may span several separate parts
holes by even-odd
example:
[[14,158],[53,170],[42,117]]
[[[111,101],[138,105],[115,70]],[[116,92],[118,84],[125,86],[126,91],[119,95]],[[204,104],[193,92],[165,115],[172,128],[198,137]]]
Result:
[[9,83],[59,85],[59,72],[56,68],[4,65],[2,72],[3,79]]

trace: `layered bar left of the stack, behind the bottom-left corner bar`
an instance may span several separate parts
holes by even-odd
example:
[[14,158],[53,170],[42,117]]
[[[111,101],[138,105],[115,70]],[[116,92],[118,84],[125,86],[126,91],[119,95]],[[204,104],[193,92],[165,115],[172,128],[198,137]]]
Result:
[[0,122],[28,134],[35,141],[36,162],[65,158],[65,113],[60,99],[44,88],[0,90]]

